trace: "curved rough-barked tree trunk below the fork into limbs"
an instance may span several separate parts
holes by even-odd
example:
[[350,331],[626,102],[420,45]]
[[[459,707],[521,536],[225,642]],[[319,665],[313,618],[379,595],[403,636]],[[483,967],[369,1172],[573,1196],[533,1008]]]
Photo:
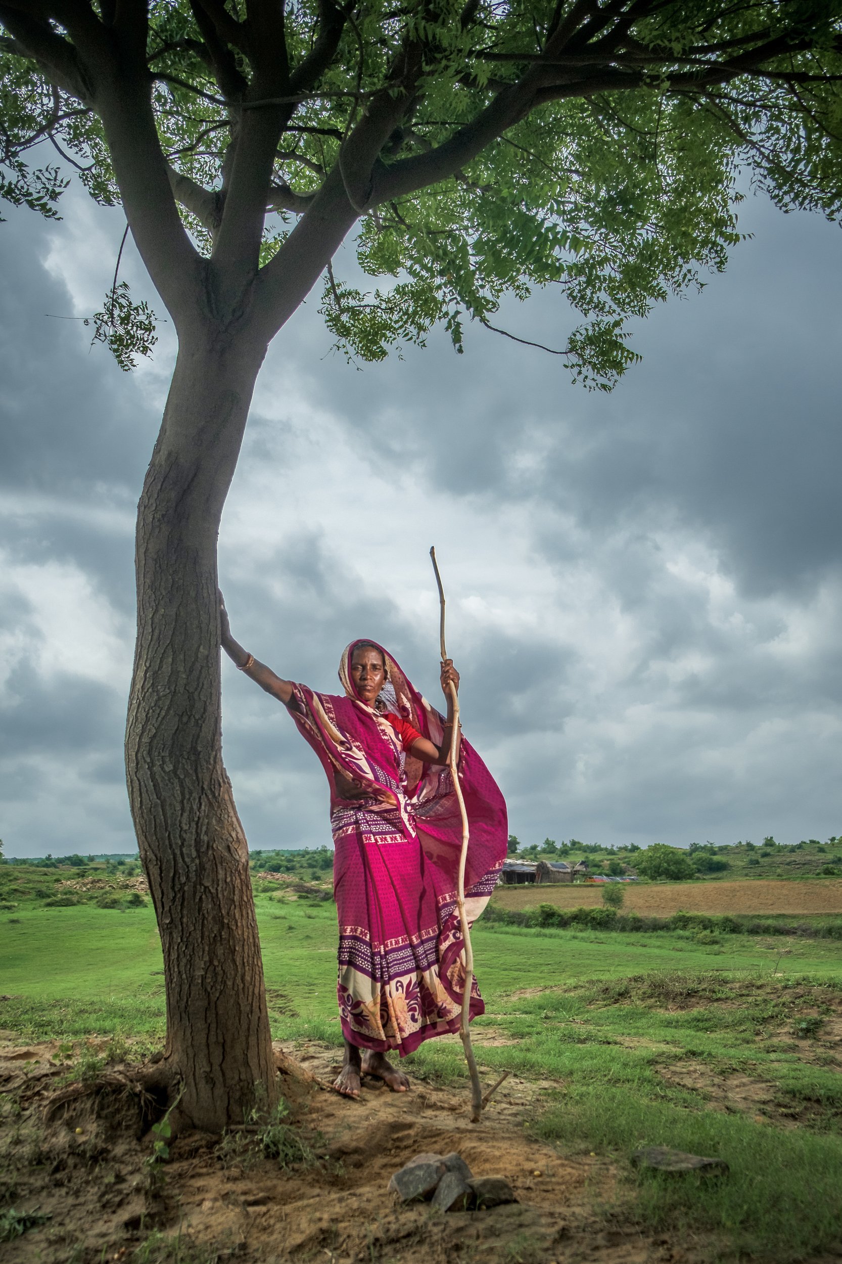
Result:
[[[277,1100],[248,848],[223,765],[216,540],[265,346],[182,339],[138,507],[126,780],[158,918],[167,1069],[220,1131]],[[262,1087],[260,1087],[262,1086]]]

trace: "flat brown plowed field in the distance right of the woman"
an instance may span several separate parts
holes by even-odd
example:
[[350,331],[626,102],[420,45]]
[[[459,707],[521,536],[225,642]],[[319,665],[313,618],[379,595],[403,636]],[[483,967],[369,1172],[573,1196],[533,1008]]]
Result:
[[[652,886],[623,884],[626,909],[650,918],[684,913],[842,913],[842,878],[788,882],[665,882]],[[602,884],[594,886],[498,886],[494,900],[504,909],[556,904],[561,909],[602,904]]]

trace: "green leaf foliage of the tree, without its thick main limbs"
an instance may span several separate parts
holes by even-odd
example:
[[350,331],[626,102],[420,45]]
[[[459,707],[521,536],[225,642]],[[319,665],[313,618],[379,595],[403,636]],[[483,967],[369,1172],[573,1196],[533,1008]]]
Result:
[[[73,3],[101,18],[113,8]],[[384,101],[406,105],[373,158],[372,190],[379,174],[488,131],[461,166],[442,158],[420,187],[360,207],[357,262],[373,283],[330,272],[321,293],[327,329],[351,359],[422,346],[436,325],[461,351],[472,322],[498,329],[503,298],[555,286],[556,327],[534,345],[561,355],[587,387],[608,389],[636,359],[630,321],[724,268],[747,181],[785,211],[836,219],[842,209],[838,0],[437,0],[421,9],[295,0],[278,47],[291,71],[314,54],[329,19],[341,33],[314,82],[267,100],[254,21],[271,8],[149,4],[157,135],[172,171],[204,195],[204,211],[190,197],[180,211],[206,259],[249,111],[282,111],[257,268],[283,254]],[[15,38],[0,40],[0,196],[56,214],[59,168],[23,158],[29,149],[40,158],[51,143],[92,197],[119,202],[96,105],[51,82]],[[540,90],[530,90],[539,72]],[[521,99],[491,125],[494,110]],[[153,313],[121,287],[94,320],[95,340],[123,368],[149,354]]]

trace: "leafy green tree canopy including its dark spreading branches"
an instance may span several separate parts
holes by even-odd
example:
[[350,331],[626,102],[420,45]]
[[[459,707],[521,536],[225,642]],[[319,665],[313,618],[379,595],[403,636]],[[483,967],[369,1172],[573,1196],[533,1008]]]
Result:
[[[56,215],[70,163],[99,202],[123,200],[176,320],[180,276],[225,319],[258,278],[271,336],[321,274],[336,345],[363,360],[436,322],[460,350],[504,295],[554,284],[575,327],[544,341],[609,387],[630,317],[724,267],[741,168],[784,210],[838,215],[841,11],[0,0],[0,192]],[[357,220],[370,287],[326,263]],[[330,249],[308,265],[317,234]],[[153,341],[116,283],[97,331],[124,367]]]

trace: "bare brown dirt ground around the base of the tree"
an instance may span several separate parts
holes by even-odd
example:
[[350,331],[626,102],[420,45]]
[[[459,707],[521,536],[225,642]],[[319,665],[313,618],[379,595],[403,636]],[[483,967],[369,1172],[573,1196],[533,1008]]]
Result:
[[[359,1102],[344,1101],[316,1082],[333,1077],[335,1052],[300,1045],[296,1069],[283,1062],[283,1083],[296,1135],[312,1149],[307,1163],[284,1170],[249,1150],[244,1134],[231,1150],[216,1136],[191,1133],[173,1141],[171,1162],[158,1165],[153,1181],[154,1109],[131,1087],[131,1068],[62,1088],[56,1052],[54,1043],[0,1049],[0,1206],[51,1217],[3,1244],[4,1264],[215,1264],[230,1255],[243,1264],[698,1258],[679,1243],[642,1236],[631,1217],[623,1224],[599,1211],[617,1186],[608,1162],[561,1158],[526,1135],[525,1120],[558,1087],[549,1082],[512,1077],[483,1122],[472,1125],[464,1095],[424,1083],[397,1095],[372,1081]],[[451,1150],[475,1176],[506,1177],[517,1202],[448,1215],[394,1202],[387,1186],[397,1168],[422,1152]],[[174,1236],[177,1248],[156,1234]]]

